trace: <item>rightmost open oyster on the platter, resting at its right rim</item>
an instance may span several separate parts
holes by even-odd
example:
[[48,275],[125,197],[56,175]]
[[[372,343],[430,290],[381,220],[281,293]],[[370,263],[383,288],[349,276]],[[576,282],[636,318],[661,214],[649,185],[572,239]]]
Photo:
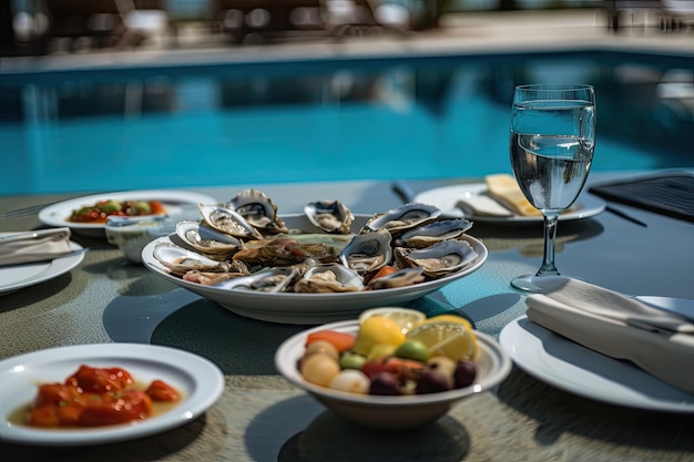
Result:
[[477,253],[467,240],[443,240],[430,247],[395,248],[396,261],[401,267],[421,267],[425,275],[438,278],[458,271],[477,259]]

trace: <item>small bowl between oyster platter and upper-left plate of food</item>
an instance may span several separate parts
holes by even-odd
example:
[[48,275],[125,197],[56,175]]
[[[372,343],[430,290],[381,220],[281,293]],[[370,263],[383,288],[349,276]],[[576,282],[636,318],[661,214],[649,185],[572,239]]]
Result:
[[113,216],[104,229],[109,244],[118,246],[129,260],[142,263],[142,249],[152,240],[175,232],[176,224],[167,216]]

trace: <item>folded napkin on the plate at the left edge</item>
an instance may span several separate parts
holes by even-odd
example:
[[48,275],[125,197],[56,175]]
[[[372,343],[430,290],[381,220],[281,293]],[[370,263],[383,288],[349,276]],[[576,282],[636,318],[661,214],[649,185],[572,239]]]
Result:
[[0,266],[50,260],[71,251],[68,227],[0,234]]

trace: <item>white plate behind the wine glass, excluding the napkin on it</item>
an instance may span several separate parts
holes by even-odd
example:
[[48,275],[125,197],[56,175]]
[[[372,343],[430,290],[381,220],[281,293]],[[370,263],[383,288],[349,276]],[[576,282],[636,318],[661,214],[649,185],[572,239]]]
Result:
[[[490,215],[465,214],[457,206],[458,202],[462,199],[473,199],[478,208],[483,209],[484,206],[488,206],[490,208]],[[487,185],[484,183],[467,183],[427,189],[417,194],[415,202],[435,205],[439,207],[442,215],[447,217],[465,217],[478,223],[519,225],[542,222],[542,216],[514,215],[510,211],[508,211],[509,215],[506,216],[492,215],[503,207],[487,195]],[[605,202],[599,197],[581,194],[573,206],[559,216],[559,219],[573,220],[590,218],[604,212],[605,205]]]

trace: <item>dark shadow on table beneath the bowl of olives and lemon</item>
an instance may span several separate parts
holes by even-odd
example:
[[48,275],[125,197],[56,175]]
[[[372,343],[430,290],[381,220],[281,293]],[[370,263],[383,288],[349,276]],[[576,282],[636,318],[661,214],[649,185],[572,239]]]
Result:
[[[299,420],[308,419],[304,428]],[[273,460],[271,452],[276,448],[268,445],[267,435],[275,428],[288,434],[276,453],[277,462],[353,462],[356,458],[361,462],[453,462],[463,460],[470,450],[467,430],[450,417],[416,430],[380,432],[355,425],[300,396],[267,408],[248,424],[245,441],[253,460]]]

